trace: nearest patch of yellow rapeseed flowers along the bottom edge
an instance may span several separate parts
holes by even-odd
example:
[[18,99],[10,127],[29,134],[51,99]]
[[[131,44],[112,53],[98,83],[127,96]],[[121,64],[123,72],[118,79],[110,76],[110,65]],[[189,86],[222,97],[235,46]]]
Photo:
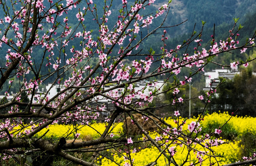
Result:
[[[219,164],[224,165],[238,159],[242,148],[243,147],[239,147],[239,142],[231,142],[230,144],[222,144],[218,147],[213,147],[212,149],[217,151],[218,154],[224,153],[224,156],[217,158],[218,161],[223,160],[219,162]],[[177,164],[180,165],[183,163],[183,160],[186,159],[186,154],[188,153],[188,149],[177,146],[176,150],[177,150],[177,153],[173,157],[175,158],[175,161],[177,162]],[[204,149],[198,148],[198,150],[204,150]],[[132,151],[133,150],[130,151],[130,158],[131,160],[134,160],[134,166],[145,166],[146,164],[155,161],[160,154],[156,147],[145,148],[145,149],[139,150],[139,152],[136,152],[136,153],[132,153]],[[124,157],[124,156],[129,156],[126,153],[123,153],[122,155],[118,155],[118,154],[112,154],[112,155],[114,157],[114,161],[121,166],[124,165],[126,162],[129,163],[129,160],[125,160],[125,157]],[[189,166],[193,162],[193,159],[196,159],[196,153],[191,151],[189,156],[190,162],[186,163],[185,166]],[[205,155],[203,159],[204,160],[207,159],[207,156]],[[213,157],[211,158],[211,161],[216,162]],[[101,166],[118,166],[115,162],[109,159],[103,158],[101,160]],[[157,160],[157,163],[158,163],[157,166],[166,166],[166,162],[167,161],[164,155],[161,155]],[[100,164],[99,161],[98,161],[98,164]],[[202,166],[209,166],[209,165],[210,165],[210,161],[208,159],[205,160],[202,164]]]

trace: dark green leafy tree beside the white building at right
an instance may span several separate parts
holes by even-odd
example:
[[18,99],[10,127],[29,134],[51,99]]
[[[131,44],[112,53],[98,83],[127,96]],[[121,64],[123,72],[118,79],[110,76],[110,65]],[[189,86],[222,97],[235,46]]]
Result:
[[[220,78],[223,81],[224,78]],[[212,111],[237,111],[238,115],[256,116],[256,76],[252,68],[244,69],[233,80],[226,80],[218,89],[217,97],[211,102]]]

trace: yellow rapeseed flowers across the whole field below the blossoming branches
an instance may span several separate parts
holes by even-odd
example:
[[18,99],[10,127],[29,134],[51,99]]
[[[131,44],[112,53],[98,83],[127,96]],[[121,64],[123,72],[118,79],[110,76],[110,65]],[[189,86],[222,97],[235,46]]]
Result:
[[[213,113],[213,114],[207,114],[203,120],[201,120],[200,125],[202,127],[202,131],[206,131],[205,129],[207,129],[209,132],[214,132],[215,128],[221,127],[222,125],[224,125],[229,119],[230,119],[231,115],[229,115],[228,113]],[[176,119],[176,121],[179,122],[179,124],[183,123],[183,118],[179,118]],[[173,127],[177,127],[177,123],[175,123],[174,119],[168,118],[165,119],[165,121],[170,124]],[[188,130],[188,125],[192,122],[192,121],[198,121],[198,118],[191,118],[191,119],[187,119],[186,124],[183,125],[183,131]],[[226,129],[224,129],[224,127],[221,129],[225,130],[225,132],[234,132],[236,133],[236,136],[239,138],[245,134],[250,134],[250,135],[254,135],[256,136],[256,125],[255,125],[255,118],[252,117],[238,117],[238,116],[234,116],[232,117],[227,123],[226,123]],[[58,125],[58,124],[54,124],[54,125],[49,125],[47,128],[45,128],[44,130],[40,131],[39,133],[37,133],[36,137],[41,137],[45,134],[45,132],[47,130],[49,130],[44,136],[45,137],[49,137],[49,138],[53,138],[53,139],[57,139],[60,137],[66,137],[67,139],[73,139],[74,135],[77,133],[79,134],[79,138],[81,140],[89,140],[89,139],[96,139],[99,138],[100,135],[104,132],[105,127],[106,127],[107,123],[93,123],[90,125]],[[112,130],[111,133],[113,133],[114,135],[120,135],[119,133],[122,133],[123,129],[122,129],[122,125],[123,123],[117,123],[115,125],[112,126]],[[17,133],[17,130],[20,129],[20,127],[16,127],[13,130],[13,134],[15,134],[15,131]],[[30,128],[26,128],[23,129],[23,132],[29,132],[28,130],[30,130]],[[231,131],[229,131],[231,130]],[[189,132],[189,131],[188,131]],[[160,136],[160,134],[158,134],[157,132],[149,132],[150,136],[155,139],[157,136]],[[142,138],[141,138],[142,139]],[[133,141],[136,141],[133,139]],[[216,162],[215,160],[221,160],[219,162],[220,165],[223,164],[228,164],[231,162],[234,162],[236,160],[239,160],[239,158],[241,157],[241,151],[243,151],[244,146],[241,145],[241,142],[239,141],[235,141],[235,140],[226,140],[226,142],[229,143],[224,143],[221,144],[217,147],[212,147],[212,149],[217,152],[218,154],[221,154],[220,157],[217,157],[216,159],[214,159],[213,157],[211,158],[211,162]],[[160,142],[158,142],[158,144],[160,144]],[[168,143],[167,143],[168,144]],[[127,160],[127,157],[131,160],[134,160],[134,164],[136,164],[136,166],[144,166],[146,164],[148,164],[149,162],[153,162],[157,159],[157,157],[160,155],[158,149],[154,146],[149,147],[149,148],[138,148],[138,145],[136,145],[137,147],[137,151],[133,152],[135,146],[134,144],[128,144],[126,145],[126,147],[130,150],[130,153],[116,153],[116,151],[114,149],[109,149],[107,150],[109,154],[111,154],[111,158],[112,160],[109,160],[107,158],[104,157],[99,157],[98,160],[96,160],[95,162],[98,165],[101,166],[116,166],[118,164],[120,164],[121,166],[124,165],[126,162],[129,163],[130,161]],[[140,145],[139,145],[140,146]],[[176,146],[175,150],[176,150],[176,154],[174,154],[174,158],[175,161],[178,164],[181,164],[183,162],[183,160],[186,158],[186,155],[188,153],[188,148],[186,148],[186,146],[177,146],[177,145],[170,145],[171,146]],[[162,147],[164,148],[164,147]],[[202,148],[201,146],[197,146],[195,145],[194,147],[197,150],[207,150]],[[129,154],[129,155],[128,155]],[[223,154],[223,155],[222,155]],[[196,155],[197,152],[196,151],[190,151],[189,153],[189,159],[188,159],[188,163],[185,164],[185,166],[189,166],[194,159],[196,159]],[[207,155],[204,155],[203,159],[205,160],[202,164],[202,166],[209,166],[209,159],[207,159]],[[115,162],[114,162],[114,161]],[[163,154],[160,155],[160,157],[157,160],[157,166],[165,166],[166,165],[166,158],[164,157]]]

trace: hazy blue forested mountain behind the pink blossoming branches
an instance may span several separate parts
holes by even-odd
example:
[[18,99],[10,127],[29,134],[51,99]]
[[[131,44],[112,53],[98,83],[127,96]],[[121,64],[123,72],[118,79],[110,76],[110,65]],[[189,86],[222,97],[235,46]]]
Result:
[[[81,3],[85,3],[82,1]],[[103,0],[94,0],[94,3],[97,4],[98,7],[98,15],[101,16],[103,13],[102,6],[104,6]],[[107,0],[107,3],[110,3],[110,0]],[[128,6],[132,5],[132,0],[128,0]],[[145,13],[150,13],[152,11],[152,14],[157,11],[158,7],[162,4],[167,3],[167,0],[156,0],[154,4],[149,6]],[[113,0],[111,11],[112,14],[109,17],[109,27],[113,26],[116,23],[116,18],[119,14],[118,9],[122,8],[122,1],[121,0]],[[206,21],[206,24],[204,26],[204,31],[202,33],[202,45],[207,45],[208,41],[211,39],[211,35],[213,35],[213,26],[215,24],[215,39],[218,40],[225,40],[224,37],[229,35],[229,30],[233,27],[234,20],[233,18],[240,18],[238,25],[242,24],[244,28],[239,32],[241,38],[239,39],[240,42],[244,43],[246,41],[245,36],[250,36],[254,33],[256,30],[256,0],[172,0],[170,4],[170,12],[168,17],[165,21],[165,26],[173,26],[176,24],[180,24],[181,22],[186,21],[180,26],[173,27],[167,31],[168,40],[166,41],[166,49],[170,50],[177,46],[179,43],[183,43],[184,40],[188,39],[191,34],[193,33],[194,27],[196,32],[201,31],[201,21]],[[76,10],[69,11],[68,15],[63,15],[65,18],[68,16],[69,18],[69,25],[72,27],[75,27],[75,25],[78,23],[76,18]],[[3,10],[0,10],[0,18],[4,18]],[[61,18],[63,20],[63,18]],[[91,20],[93,19],[93,16],[88,13],[85,18],[85,24],[87,30],[93,30],[98,31],[98,25],[97,24],[91,24]],[[151,29],[155,28],[157,25],[161,23],[162,19],[154,20],[153,24],[150,25]],[[51,28],[47,27],[47,24],[44,25],[45,28]],[[145,33],[145,31],[142,31],[142,33]],[[162,32],[159,32],[162,34]],[[96,38],[97,36],[93,36]],[[159,41],[159,42],[156,42]],[[159,50],[159,48],[162,46],[161,36],[159,34],[150,36],[146,41],[144,41],[143,45],[140,46],[140,49],[142,49],[141,53],[148,53],[148,46],[151,46],[154,50]],[[78,40],[73,41],[73,45],[77,45],[76,43],[79,43]],[[125,45],[126,43],[124,43]],[[72,44],[70,44],[69,47],[72,47]],[[188,53],[193,53],[193,45],[190,46],[191,50]],[[7,47],[2,47],[1,50],[1,56],[0,56],[0,66],[5,66],[5,56],[6,56],[6,50]],[[117,51],[114,49],[113,52]],[[34,61],[37,64],[37,62],[41,62],[43,50],[37,50],[37,57],[34,57]],[[229,65],[231,62],[231,59],[243,59],[246,60],[248,57],[256,57],[256,49],[251,48],[248,49],[246,54],[240,54],[240,51],[233,52],[233,53],[226,53],[225,56],[221,56],[219,58],[216,58],[218,62]],[[137,57],[138,58],[138,57]],[[132,58],[130,60],[133,60]],[[46,60],[45,60],[46,63]],[[129,63],[129,62],[127,62]],[[255,64],[255,63],[252,63]],[[253,70],[255,70],[256,65],[252,65]],[[205,68],[205,71],[210,71],[212,69],[215,69],[216,66],[213,64],[208,65]],[[43,65],[42,75],[46,74],[48,72],[48,67]],[[2,70],[4,71],[4,70]],[[188,74],[189,70],[184,69],[182,71],[182,75]],[[28,76],[27,80],[29,80],[30,76]],[[32,76],[31,76],[32,77]],[[161,77],[163,79],[164,77]],[[50,78],[45,82],[44,84],[51,83],[51,81],[54,79],[54,77]],[[160,79],[160,78],[158,78]],[[200,75],[197,75],[193,78],[194,85],[197,89],[201,90],[204,87],[205,84],[205,78],[201,77]],[[3,87],[3,89],[0,91],[0,94],[3,94],[5,91],[8,90],[8,83],[6,83]],[[12,89],[15,92],[15,89]]]

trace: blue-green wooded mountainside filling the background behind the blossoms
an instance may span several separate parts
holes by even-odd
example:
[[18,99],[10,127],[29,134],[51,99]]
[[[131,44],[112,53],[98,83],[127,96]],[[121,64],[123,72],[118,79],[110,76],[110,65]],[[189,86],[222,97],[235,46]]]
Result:
[[[146,12],[148,11],[156,11],[156,6],[158,6],[158,3],[163,3],[165,2],[164,0],[159,0],[158,2],[155,2],[156,5],[149,6],[149,8],[146,8]],[[7,3],[7,2],[6,2]],[[85,3],[85,1],[81,1],[80,3]],[[110,5],[108,1],[106,1],[107,5]],[[130,2],[128,2],[129,4]],[[166,3],[166,2],[165,2]],[[166,36],[169,38],[168,40],[165,41],[166,47],[165,49],[170,50],[173,49],[177,46],[177,43],[182,43],[183,40],[181,39],[188,39],[191,36],[191,33],[194,32],[194,25],[195,23],[202,23],[204,24],[204,33],[202,34],[202,45],[206,45],[208,41],[211,39],[210,36],[213,35],[213,24],[215,24],[215,38],[217,40],[223,40],[222,36],[226,36],[228,33],[228,30],[230,27],[232,27],[233,21],[232,18],[234,18],[235,21],[241,22],[242,25],[246,27],[246,29],[242,28],[239,34],[241,36],[249,36],[255,29],[255,26],[252,26],[251,23],[256,22],[256,17],[255,17],[255,11],[254,7],[256,4],[255,0],[240,0],[239,2],[234,2],[233,0],[225,0],[225,1],[211,1],[211,0],[197,0],[197,1],[187,1],[187,0],[181,0],[179,2],[173,1],[171,3],[171,12],[169,12],[169,16],[166,18],[165,25],[166,26],[171,26],[174,24],[179,24],[182,21],[188,19],[187,22],[185,22],[183,25],[178,26],[178,27],[173,27],[171,31],[167,31]],[[115,18],[120,15],[119,9],[120,7],[122,8],[122,1],[114,0],[112,2],[111,9],[112,9],[112,14],[109,17],[108,25],[112,27],[116,22],[114,22]],[[129,4],[131,5],[131,4]],[[104,6],[104,1],[98,1],[97,6]],[[205,10],[201,10],[201,9]],[[103,9],[98,9],[98,15],[102,15],[104,10]],[[219,13],[218,17],[213,17],[215,13]],[[4,15],[5,13],[3,11],[0,11],[0,16]],[[76,13],[75,10],[70,11],[70,15],[68,16],[69,18],[69,25],[71,27],[75,27],[77,24],[77,19],[72,19],[71,16],[75,17]],[[174,17],[175,16],[175,17]],[[66,18],[67,16],[64,15],[63,18]],[[63,18],[60,18],[58,22],[62,21]],[[86,19],[83,24],[86,25],[86,30],[97,30],[98,26],[97,24],[91,24],[91,20],[93,19],[93,16],[91,15],[90,12],[86,13]],[[204,21],[202,21],[204,20]],[[156,20],[155,24],[150,25],[149,29],[153,29],[156,27],[156,25],[160,24],[163,20],[158,19]],[[206,23],[207,22],[207,23]],[[58,24],[58,23],[57,23]],[[58,26],[56,24],[56,26]],[[48,24],[43,25],[45,29],[50,29]],[[241,27],[240,27],[241,28]],[[236,30],[239,29],[239,24],[236,27]],[[81,29],[82,31],[82,29]],[[200,32],[201,31],[201,24],[196,24],[195,31]],[[61,34],[61,31],[59,29],[56,30],[57,35]],[[162,32],[159,32],[162,33]],[[143,37],[147,34],[147,31],[141,31],[141,34],[138,35],[138,37]],[[92,36],[92,38],[96,38],[97,36]],[[240,36],[239,36],[240,37]],[[224,39],[225,40],[225,39]],[[245,41],[245,38],[239,38],[240,41]],[[71,48],[72,45],[75,45],[76,47],[79,47],[77,43],[81,42],[79,39],[74,38],[72,43],[70,43],[70,46],[67,46],[66,49],[63,49],[63,52],[67,53],[67,59],[69,58],[70,53],[68,53],[68,50]],[[125,46],[128,43],[124,43],[123,45]],[[193,47],[196,47],[196,43],[192,42],[191,44],[191,50],[193,50]],[[144,49],[146,46],[151,46],[152,47],[152,54],[154,53],[159,53],[155,52],[153,50],[158,50],[159,47],[163,46],[163,43],[161,41],[161,37],[159,34],[152,35],[148,37],[148,40],[144,41],[144,44],[141,44],[139,49],[142,50],[140,53],[148,53],[147,49]],[[2,52],[5,52],[7,48],[2,47]],[[248,49],[250,51],[250,49]],[[252,50],[252,49],[251,49]],[[35,61],[36,65],[39,65],[39,63],[42,61],[42,55],[46,54],[43,49],[35,49],[35,52],[38,53],[38,56],[33,59]],[[112,51],[113,53],[117,53],[118,50],[114,48]],[[138,51],[139,52],[139,51]],[[193,52],[191,52],[193,53]],[[190,54],[191,54],[190,53]],[[40,56],[39,56],[40,55]],[[219,63],[225,63],[229,64],[230,59],[238,59],[238,58],[243,58],[244,54],[240,54],[239,52],[237,53],[226,53],[225,56],[222,56],[222,58],[218,58]],[[137,56],[133,56],[129,58],[129,60],[134,60],[137,59]],[[4,56],[0,57],[0,59],[5,59]],[[244,59],[245,61],[246,59]],[[49,69],[52,70],[52,68],[49,66],[46,66],[45,64],[47,63],[47,60],[45,59],[43,61],[42,69],[41,69],[41,75],[44,75],[48,73]],[[0,66],[5,66],[5,60],[0,60]],[[209,64],[205,68],[205,70],[211,70],[215,69],[215,65]],[[3,70],[4,71],[4,70]],[[69,77],[64,76],[64,77]],[[167,77],[163,76],[161,79],[165,79]],[[26,77],[27,80],[30,80],[30,76],[27,75]],[[44,83],[51,83],[55,79],[55,75],[50,77],[48,80],[46,80]],[[158,78],[159,79],[159,78]],[[201,79],[201,76],[195,76],[193,78],[193,83],[194,86],[199,88],[199,85],[201,81],[204,81]],[[16,83],[16,82],[15,82]],[[18,81],[17,81],[18,83]],[[202,84],[200,84],[202,85]],[[18,91],[18,89],[15,89],[14,87],[17,86],[12,86],[11,91],[14,93]],[[202,88],[202,87],[201,87]],[[8,83],[4,85],[3,89],[0,93],[4,93],[6,89],[8,89]],[[2,95],[1,94],[1,95]]]

